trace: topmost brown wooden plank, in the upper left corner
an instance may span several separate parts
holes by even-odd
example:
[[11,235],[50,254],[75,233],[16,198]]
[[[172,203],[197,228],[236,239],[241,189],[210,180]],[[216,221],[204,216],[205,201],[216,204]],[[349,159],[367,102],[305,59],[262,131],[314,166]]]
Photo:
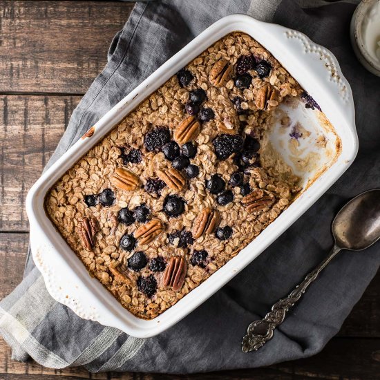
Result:
[[129,2],[0,1],[0,93],[83,94]]

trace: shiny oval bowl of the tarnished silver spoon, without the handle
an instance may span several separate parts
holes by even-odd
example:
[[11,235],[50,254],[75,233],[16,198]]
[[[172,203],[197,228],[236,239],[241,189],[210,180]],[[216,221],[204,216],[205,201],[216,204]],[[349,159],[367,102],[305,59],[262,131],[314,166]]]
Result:
[[380,238],[380,189],[359,194],[336,214],[332,234],[341,249],[361,251]]

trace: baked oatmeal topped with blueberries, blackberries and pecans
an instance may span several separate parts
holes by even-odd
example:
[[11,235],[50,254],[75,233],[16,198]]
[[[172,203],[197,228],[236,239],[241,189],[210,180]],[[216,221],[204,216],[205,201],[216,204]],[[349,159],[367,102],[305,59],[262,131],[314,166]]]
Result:
[[135,316],[153,319],[174,305],[292,202],[296,175],[260,157],[285,97],[319,108],[263,46],[230,33],[50,189],[55,227]]

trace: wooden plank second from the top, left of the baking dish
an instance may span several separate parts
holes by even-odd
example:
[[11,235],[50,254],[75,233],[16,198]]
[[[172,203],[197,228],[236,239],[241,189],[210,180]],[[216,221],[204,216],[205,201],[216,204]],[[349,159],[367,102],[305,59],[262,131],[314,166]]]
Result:
[[[1,72],[1,70],[0,70]],[[0,96],[0,231],[28,231],[25,198],[80,97]]]

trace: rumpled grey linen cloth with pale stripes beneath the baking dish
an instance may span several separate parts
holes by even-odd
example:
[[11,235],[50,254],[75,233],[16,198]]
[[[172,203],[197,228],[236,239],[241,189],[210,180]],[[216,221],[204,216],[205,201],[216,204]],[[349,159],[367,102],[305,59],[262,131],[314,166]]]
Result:
[[[327,5],[328,4],[328,5]],[[0,332],[12,358],[88,370],[203,372],[253,368],[309,357],[339,331],[380,264],[379,245],[342,253],[310,287],[276,331],[251,354],[240,350],[247,325],[263,317],[332,246],[330,222],[360,191],[379,187],[380,79],[354,57],[349,23],[354,4],[293,0],[162,0],[137,3],[108,53],[108,64],[77,106],[51,164],[137,84],[220,17],[245,13],[301,30],[338,57],[354,93],[360,150],[357,160],[305,215],[217,294],[186,319],[151,339],[135,339],[84,321],[50,298],[28,257],[23,282],[0,303]],[[96,36],[94,36],[96,38]]]

